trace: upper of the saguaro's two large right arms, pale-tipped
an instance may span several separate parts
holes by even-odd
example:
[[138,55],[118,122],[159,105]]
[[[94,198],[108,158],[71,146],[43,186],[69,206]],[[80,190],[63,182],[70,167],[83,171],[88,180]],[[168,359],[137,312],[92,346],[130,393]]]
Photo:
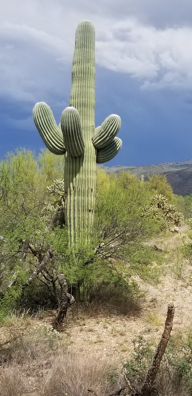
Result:
[[107,117],[100,127],[97,127],[93,136],[95,148],[104,148],[113,141],[120,129],[121,120],[116,114]]

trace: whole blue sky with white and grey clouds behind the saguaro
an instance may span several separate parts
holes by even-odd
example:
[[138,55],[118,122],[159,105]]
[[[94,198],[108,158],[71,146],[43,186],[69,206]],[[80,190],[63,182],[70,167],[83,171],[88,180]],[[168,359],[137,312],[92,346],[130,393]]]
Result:
[[69,105],[75,29],[96,29],[96,126],[122,121],[110,165],[192,158],[191,0],[6,0],[0,15],[0,157],[44,147],[32,109]]

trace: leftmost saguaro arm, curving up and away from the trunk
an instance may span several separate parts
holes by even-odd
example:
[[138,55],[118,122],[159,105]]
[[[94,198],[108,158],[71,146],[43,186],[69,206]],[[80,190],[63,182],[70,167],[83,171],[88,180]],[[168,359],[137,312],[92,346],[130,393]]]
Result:
[[56,125],[55,118],[50,107],[44,103],[36,103],[33,109],[33,118],[43,142],[54,154],[65,154],[63,135]]

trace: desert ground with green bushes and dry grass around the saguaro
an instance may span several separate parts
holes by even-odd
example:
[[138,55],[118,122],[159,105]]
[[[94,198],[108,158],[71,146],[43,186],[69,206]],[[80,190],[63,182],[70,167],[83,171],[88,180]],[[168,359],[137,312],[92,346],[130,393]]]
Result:
[[0,395],[147,394],[171,302],[149,394],[190,395],[190,197],[98,170],[94,228],[72,247],[64,166],[48,150],[0,163]]

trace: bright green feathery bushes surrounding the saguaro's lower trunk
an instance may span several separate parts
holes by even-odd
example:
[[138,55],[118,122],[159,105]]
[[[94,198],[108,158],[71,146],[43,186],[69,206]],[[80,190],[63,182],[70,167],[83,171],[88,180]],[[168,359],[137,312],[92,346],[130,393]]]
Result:
[[[139,280],[158,282],[162,254],[148,246],[157,236],[156,218],[144,218],[151,193],[128,172],[118,177],[98,171],[96,216],[88,242],[81,235],[75,250],[68,246],[64,219],[64,162],[48,150],[36,158],[21,150],[10,153],[0,164],[0,315],[13,306],[35,309],[56,307],[63,272],[78,300],[87,290],[118,284],[126,295],[138,294]],[[21,259],[24,242],[28,249]],[[33,285],[22,285],[45,257],[50,247],[54,258]],[[15,279],[14,279],[15,276]],[[9,282],[13,286],[8,287]],[[117,290],[117,286],[116,290]],[[40,291],[39,291],[40,290]]]

